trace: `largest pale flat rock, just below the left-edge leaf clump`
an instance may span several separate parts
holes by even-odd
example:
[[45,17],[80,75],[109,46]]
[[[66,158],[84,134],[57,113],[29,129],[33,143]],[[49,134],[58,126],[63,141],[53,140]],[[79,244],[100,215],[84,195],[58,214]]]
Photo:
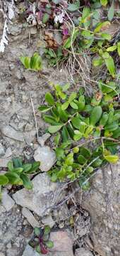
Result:
[[32,183],[32,190],[23,188],[13,194],[13,199],[18,205],[43,216],[47,214],[44,210],[54,204],[54,193],[58,190],[58,184],[51,182],[47,174],[38,174]]

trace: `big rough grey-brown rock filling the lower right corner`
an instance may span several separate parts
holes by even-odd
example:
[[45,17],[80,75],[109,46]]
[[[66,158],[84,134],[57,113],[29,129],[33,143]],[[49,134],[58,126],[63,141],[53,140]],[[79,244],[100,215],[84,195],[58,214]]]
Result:
[[120,162],[98,170],[91,189],[83,196],[82,206],[90,213],[90,239],[102,256],[120,252]]

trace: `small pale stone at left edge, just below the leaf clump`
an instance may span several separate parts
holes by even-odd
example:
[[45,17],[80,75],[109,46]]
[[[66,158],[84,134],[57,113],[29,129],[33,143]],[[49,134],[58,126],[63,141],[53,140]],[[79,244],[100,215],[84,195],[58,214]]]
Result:
[[8,196],[6,189],[2,191],[1,204],[4,206],[6,211],[11,210],[15,204],[15,201],[13,201],[11,196]]

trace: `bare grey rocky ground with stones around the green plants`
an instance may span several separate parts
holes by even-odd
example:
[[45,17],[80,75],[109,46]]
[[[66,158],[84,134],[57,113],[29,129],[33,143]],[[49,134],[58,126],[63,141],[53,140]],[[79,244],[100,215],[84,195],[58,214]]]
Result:
[[[0,21],[2,31],[2,15]],[[20,55],[29,55],[35,50],[42,54],[44,51],[45,42],[40,30],[33,28],[29,38],[28,28],[15,20],[9,25],[8,40],[5,53],[0,55],[0,168],[3,171],[13,156],[23,156],[28,161],[34,156],[35,160],[42,161],[42,173],[34,178],[32,191],[20,188],[9,193],[9,187],[3,191],[0,256],[38,256],[28,242],[33,228],[46,224],[52,228],[54,241],[49,256],[119,256],[120,165],[98,171],[89,193],[78,193],[71,204],[67,201],[59,208],[51,209],[66,196],[66,191],[62,189],[64,184],[52,183],[45,173],[54,164],[55,156],[49,147],[50,139],[49,144],[44,144],[47,139],[47,135],[42,137],[45,124],[37,107],[44,101],[49,81],[68,82],[67,70],[48,68],[44,61],[44,73],[40,75],[24,70],[20,65]],[[37,142],[32,105],[40,143]],[[44,152],[47,152],[45,159]]]

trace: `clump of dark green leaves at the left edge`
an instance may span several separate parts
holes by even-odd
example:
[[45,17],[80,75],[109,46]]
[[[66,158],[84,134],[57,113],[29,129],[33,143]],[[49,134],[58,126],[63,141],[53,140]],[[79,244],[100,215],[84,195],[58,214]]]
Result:
[[6,184],[23,185],[26,189],[32,189],[32,181],[30,181],[29,176],[35,174],[39,166],[39,161],[32,164],[23,164],[23,161],[18,158],[8,161],[8,171],[0,176],[0,186]]

